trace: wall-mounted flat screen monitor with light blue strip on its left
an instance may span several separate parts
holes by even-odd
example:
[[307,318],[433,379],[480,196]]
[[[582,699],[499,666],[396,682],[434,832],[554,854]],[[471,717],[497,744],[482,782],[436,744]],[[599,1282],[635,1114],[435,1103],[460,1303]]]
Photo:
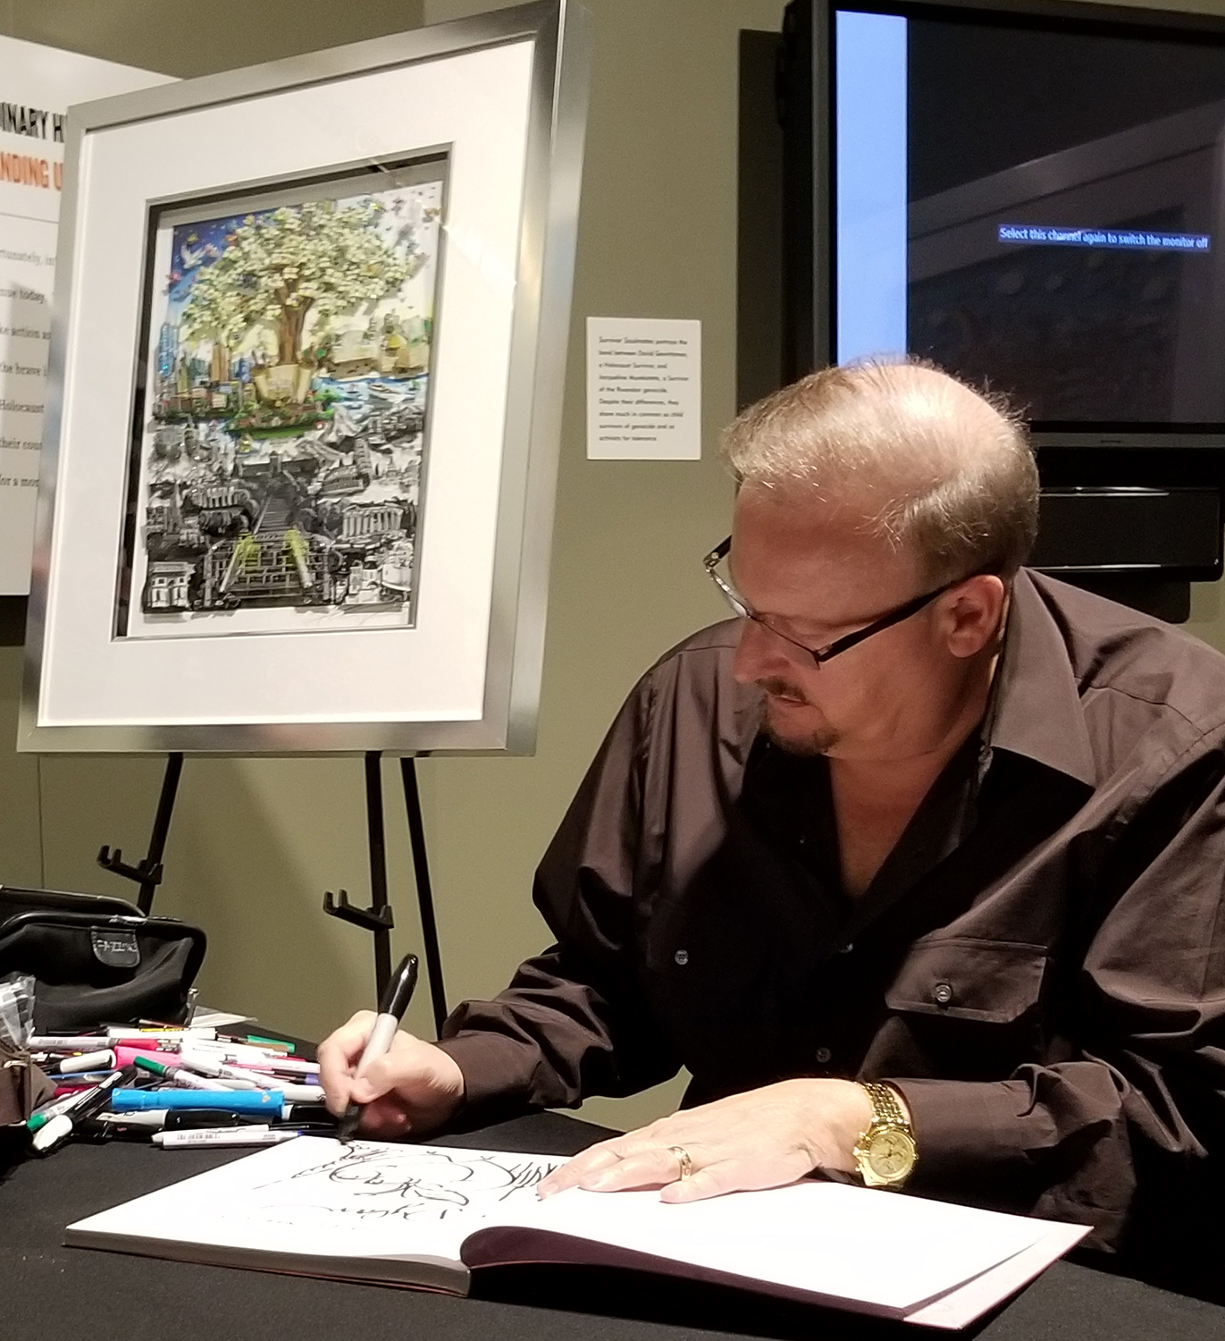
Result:
[[1225,25],[1041,0],[807,19],[812,362],[929,358],[1040,444],[1220,448]]

